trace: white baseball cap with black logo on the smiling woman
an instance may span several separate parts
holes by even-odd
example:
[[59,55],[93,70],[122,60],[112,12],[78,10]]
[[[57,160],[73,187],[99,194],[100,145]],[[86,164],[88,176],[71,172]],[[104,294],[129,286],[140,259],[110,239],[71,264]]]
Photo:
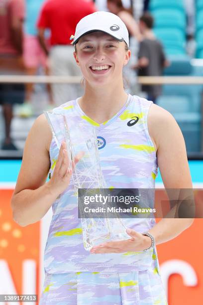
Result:
[[76,44],[82,36],[95,31],[102,31],[119,41],[125,41],[129,47],[129,34],[125,23],[117,15],[107,11],[97,11],[82,18],[76,26],[75,36],[72,35],[70,38],[74,38],[72,44]]

